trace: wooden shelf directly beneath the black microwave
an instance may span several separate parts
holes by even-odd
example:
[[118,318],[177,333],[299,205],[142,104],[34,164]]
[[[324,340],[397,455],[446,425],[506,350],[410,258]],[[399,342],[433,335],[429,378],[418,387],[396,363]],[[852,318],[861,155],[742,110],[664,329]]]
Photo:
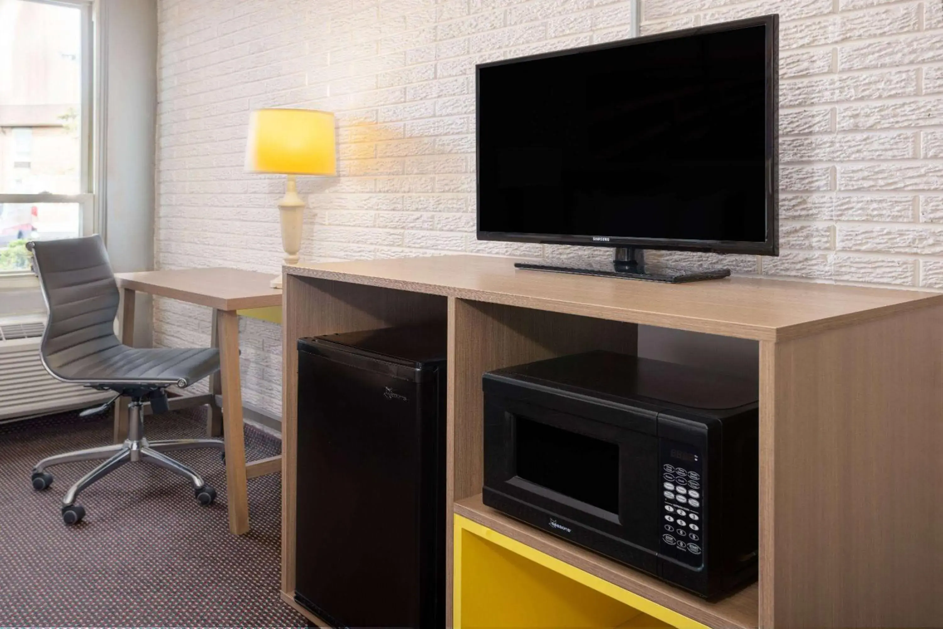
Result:
[[707,603],[647,574],[627,568],[539,529],[513,520],[481,502],[481,494],[455,503],[455,513],[516,539],[609,583],[668,607],[687,618],[710,627],[753,629],[759,622],[759,590],[754,583],[718,603]]

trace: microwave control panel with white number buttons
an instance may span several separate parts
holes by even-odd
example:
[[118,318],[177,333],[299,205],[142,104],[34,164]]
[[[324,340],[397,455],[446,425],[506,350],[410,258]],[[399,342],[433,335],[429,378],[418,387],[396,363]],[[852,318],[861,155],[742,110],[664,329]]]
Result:
[[703,564],[706,486],[703,455],[695,446],[661,439],[660,553],[698,567]]

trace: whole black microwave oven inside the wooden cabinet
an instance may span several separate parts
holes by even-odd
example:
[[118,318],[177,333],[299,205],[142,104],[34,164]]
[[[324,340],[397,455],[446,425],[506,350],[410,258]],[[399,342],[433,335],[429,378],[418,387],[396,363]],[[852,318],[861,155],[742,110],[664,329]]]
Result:
[[483,389],[485,505],[707,599],[755,580],[756,381],[589,352]]

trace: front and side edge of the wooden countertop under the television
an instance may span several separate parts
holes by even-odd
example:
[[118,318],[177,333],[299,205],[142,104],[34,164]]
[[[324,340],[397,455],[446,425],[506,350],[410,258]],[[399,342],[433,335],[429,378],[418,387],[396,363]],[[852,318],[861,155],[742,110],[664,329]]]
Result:
[[657,327],[670,327],[673,329],[687,330],[689,332],[703,332],[707,334],[717,334],[725,337],[752,340],[780,341],[800,339],[802,337],[812,336],[821,332],[835,329],[836,327],[842,327],[844,325],[848,325],[849,323],[864,323],[874,319],[880,319],[886,316],[915,310],[922,307],[936,306],[943,302],[943,293],[927,291],[926,298],[914,299],[898,304],[889,304],[886,306],[875,306],[866,310],[835,315],[834,317],[826,317],[811,322],[772,327],[767,325],[755,325],[751,323],[718,322],[717,320],[712,319],[651,313],[610,306],[587,306],[581,302],[528,297],[502,292],[494,292],[490,290],[458,289],[455,287],[443,286],[439,284],[426,284],[423,282],[412,282],[409,280],[389,279],[386,277],[363,275],[359,273],[343,273],[339,271],[314,269],[311,267],[284,267],[284,269],[285,273],[299,277],[313,277],[316,279],[347,282],[350,284],[362,284],[366,286],[375,286],[378,288],[423,292],[433,295],[442,295],[444,297],[455,297],[458,299],[468,299],[472,301],[488,302],[491,304],[501,304],[504,306],[534,307],[536,309],[551,310],[565,314],[575,314],[598,318],[600,311],[605,311],[607,314],[613,315],[610,317],[612,321],[620,321],[623,323],[640,323],[643,325],[653,325]]

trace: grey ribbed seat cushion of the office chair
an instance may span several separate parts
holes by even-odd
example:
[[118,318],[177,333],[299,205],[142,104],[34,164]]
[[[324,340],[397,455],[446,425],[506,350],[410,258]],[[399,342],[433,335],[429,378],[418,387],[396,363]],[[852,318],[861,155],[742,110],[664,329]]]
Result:
[[116,345],[55,369],[66,380],[188,387],[220,369],[218,349],[136,348]]

